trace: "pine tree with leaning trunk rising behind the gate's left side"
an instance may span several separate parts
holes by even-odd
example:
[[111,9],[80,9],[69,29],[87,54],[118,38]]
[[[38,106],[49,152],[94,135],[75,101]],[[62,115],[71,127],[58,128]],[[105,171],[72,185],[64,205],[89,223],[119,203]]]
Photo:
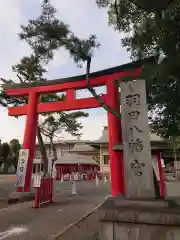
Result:
[[[60,48],[65,48],[73,60],[78,65],[81,65],[86,60],[87,55],[92,54],[92,49],[99,46],[94,35],[85,40],[75,36],[69,26],[60,21],[55,13],[56,9],[49,1],[44,0],[40,16],[35,20],[30,19],[27,26],[21,26],[22,31],[19,36],[30,45],[32,54],[29,57],[22,58],[20,63],[13,66],[20,83],[31,82],[36,84],[39,81],[47,81],[44,77],[45,66],[53,59],[54,52]],[[81,53],[80,56],[79,53]],[[1,80],[4,83],[14,83],[12,80]],[[62,99],[57,94],[43,95],[40,98],[41,102],[56,100]],[[3,91],[0,95],[0,104],[2,106],[17,106],[26,102],[26,98],[10,98]],[[74,134],[75,132],[78,133],[82,127],[77,119],[85,116],[87,114],[83,112],[77,112],[76,115],[59,113],[57,119],[64,119],[63,124],[67,123],[66,130]],[[68,124],[71,124],[71,127],[68,127]],[[41,155],[45,162],[45,170],[47,171],[47,155],[41,135],[42,131],[42,127],[38,126],[37,137]]]

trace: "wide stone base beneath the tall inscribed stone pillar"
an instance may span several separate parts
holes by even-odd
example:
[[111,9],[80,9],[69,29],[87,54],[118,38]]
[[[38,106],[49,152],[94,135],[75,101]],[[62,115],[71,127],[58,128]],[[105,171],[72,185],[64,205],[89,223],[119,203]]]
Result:
[[100,240],[180,240],[180,206],[173,201],[119,196],[99,211]]

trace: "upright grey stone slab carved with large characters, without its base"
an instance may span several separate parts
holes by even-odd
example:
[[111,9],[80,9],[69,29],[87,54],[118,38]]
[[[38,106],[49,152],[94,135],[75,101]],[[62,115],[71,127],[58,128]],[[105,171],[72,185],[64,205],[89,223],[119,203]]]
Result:
[[154,197],[144,80],[121,83],[122,139],[127,198]]

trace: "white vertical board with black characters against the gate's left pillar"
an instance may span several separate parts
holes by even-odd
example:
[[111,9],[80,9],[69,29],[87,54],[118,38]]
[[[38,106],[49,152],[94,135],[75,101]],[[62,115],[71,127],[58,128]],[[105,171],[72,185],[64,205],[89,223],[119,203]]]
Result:
[[16,172],[16,186],[24,187],[26,178],[26,169],[29,158],[29,149],[21,149],[19,152],[18,167]]

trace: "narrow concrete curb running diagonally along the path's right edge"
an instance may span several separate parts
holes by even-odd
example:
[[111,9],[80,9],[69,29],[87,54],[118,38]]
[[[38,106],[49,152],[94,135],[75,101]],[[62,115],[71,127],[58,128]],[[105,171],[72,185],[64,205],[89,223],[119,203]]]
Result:
[[78,223],[82,222],[86,218],[88,218],[93,212],[95,212],[101,205],[109,198],[111,195],[108,195],[105,197],[105,199],[98,205],[96,205],[93,209],[91,209],[89,212],[87,212],[83,217],[81,217],[79,220],[70,223],[68,226],[66,226],[63,230],[58,232],[57,234],[51,236],[51,238],[47,238],[46,240],[56,240],[58,237],[61,237],[64,233],[68,232],[72,227],[76,226]]

